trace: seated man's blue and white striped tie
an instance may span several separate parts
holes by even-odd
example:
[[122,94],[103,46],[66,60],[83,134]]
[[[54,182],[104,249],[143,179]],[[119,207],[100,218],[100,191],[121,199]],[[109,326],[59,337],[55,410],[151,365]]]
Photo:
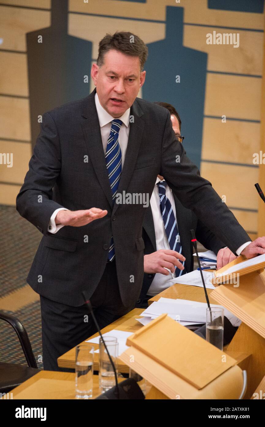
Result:
[[[172,251],[179,252],[181,254],[182,248],[180,243],[179,230],[176,223],[176,218],[171,206],[170,201],[166,196],[166,187],[167,183],[165,181],[160,181],[157,183],[158,185],[158,194],[160,199],[160,210],[163,216],[165,231],[167,234],[167,240]],[[185,261],[182,262],[184,266]],[[180,270],[176,268],[176,277],[181,276],[181,274],[185,274],[187,272],[185,266],[184,270]]]

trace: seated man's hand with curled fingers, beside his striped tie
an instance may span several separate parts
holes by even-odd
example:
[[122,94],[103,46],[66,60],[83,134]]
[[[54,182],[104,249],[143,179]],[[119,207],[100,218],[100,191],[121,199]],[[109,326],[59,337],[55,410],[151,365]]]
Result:
[[171,249],[160,249],[153,252],[153,254],[144,255],[144,272],[161,273],[168,276],[170,273],[164,267],[168,268],[172,273],[175,272],[175,266],[180,270],[184,269],[179,260],[185,261],[186,258],[179,252],[171,251]]

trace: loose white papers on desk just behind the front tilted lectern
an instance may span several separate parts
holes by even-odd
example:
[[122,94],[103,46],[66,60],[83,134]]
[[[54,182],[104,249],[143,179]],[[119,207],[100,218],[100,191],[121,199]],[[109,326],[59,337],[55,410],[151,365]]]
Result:
[[[222,307],[222,305],[210,304],[211,307]],[[202,325],[206,322],[207,303],[188,301],[185,299],[160,298],[154,301],[137,319],[142,325],[147,325],[163,313],[167,313],[171,319],[176,320],[183,326]],[[224,307],[222,307],[224,308]],[[230,311],[224,308],[224,315],[233,326],[239,326],[241,321]]]

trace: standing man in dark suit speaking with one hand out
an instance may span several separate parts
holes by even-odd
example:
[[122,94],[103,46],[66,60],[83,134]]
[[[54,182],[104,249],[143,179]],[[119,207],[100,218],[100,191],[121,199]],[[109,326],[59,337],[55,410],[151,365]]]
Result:
[[146,208],[116,196],[149,197],[160,174],[234,253],[265,252],[176,142],[169,112],[136,98],[146,58],[138,36],[106,35],[91,70],[96,89],[43,115],[17,210],[43,233],[27,281],[40,294],[44,369],[60,370],[57,358],[95,333],[84,298],[101,328],[135,306]]

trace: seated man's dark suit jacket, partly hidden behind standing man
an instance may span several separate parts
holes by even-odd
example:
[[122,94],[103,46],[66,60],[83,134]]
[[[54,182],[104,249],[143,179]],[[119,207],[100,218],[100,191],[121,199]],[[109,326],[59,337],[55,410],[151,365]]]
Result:
[[[177,196],[173,193],[173,198],[176,207],[176,217],[179,229],[179,235],[181,239],[181,253],[186,258],[185,266],[187,273],[193,271],[193,246],[190,240],[190,230],[195,231],[196,239],[202,243],[206,249],[210,249],[216,255],[218,251],[223,248],[224,243],[218,239],[210,230],[207,228],[202,221],[200,221],[195,213],[190,209],[184,208]],[[144,216],[143,223],[143,234],[144,239],[144,255],[152,254],[156,252],[156,232],[153,220],[153,213],[151,206],[147,208],[147,212]],[[135,307],[141,307],[144,303],[144,299],[147,296],[148,289],[150,288],[155,274],[144,273],[143,285],[138,300],[136,301]],[[166,276],[165,276],[166,277]],[[168,280],[168,278],[167,278]],[[150,298],[150,297],[149,297]]]

